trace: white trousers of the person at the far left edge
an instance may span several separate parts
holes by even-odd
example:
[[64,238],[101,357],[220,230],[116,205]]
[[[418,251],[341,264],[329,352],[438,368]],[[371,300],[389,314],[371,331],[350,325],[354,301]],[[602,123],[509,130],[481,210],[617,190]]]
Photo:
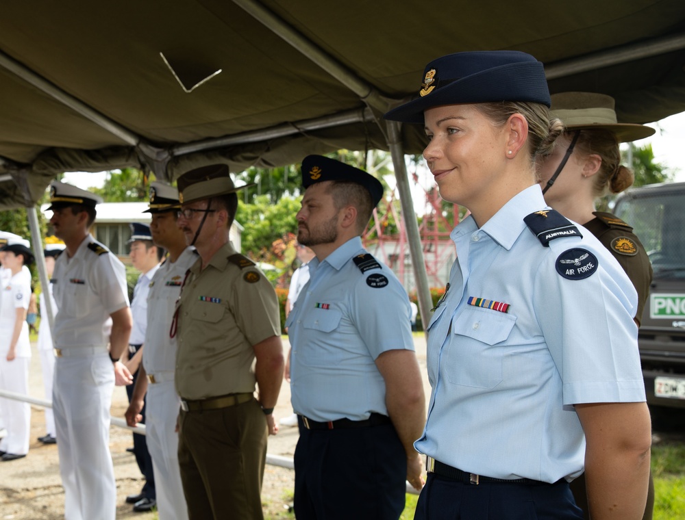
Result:
[[[0,388],[10,392],[29,395],[29,363],[31,358],[14,358],[7,361],[7,354],[0,356]],[[15,455],[29,452],[31,433],[31,406],[27,402],[0,398],[2,401],[3,426],[7,435],[0,440],[0,451]]]

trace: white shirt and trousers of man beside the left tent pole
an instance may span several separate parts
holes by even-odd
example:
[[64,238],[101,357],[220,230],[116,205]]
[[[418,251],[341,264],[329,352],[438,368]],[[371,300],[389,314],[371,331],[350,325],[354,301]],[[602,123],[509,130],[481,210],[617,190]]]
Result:
[[116,482],[109,450],[114,369],[103,325],[129,304],[125,268],[88,235],[73,257],[66,252],[58,257],[53,284],[55,348],[62,350],[55,363],[53,411],[64,517],[114,520]]

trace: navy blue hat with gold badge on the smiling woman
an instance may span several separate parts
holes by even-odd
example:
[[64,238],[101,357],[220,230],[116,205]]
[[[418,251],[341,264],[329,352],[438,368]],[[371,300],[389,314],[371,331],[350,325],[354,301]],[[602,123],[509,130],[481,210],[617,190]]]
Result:
[[440,105],[530,101],[549,105],[543,64],[519,51],[475,51],[438,57],[426,65],[419,97],[384,118],[423,125],[423,111]]

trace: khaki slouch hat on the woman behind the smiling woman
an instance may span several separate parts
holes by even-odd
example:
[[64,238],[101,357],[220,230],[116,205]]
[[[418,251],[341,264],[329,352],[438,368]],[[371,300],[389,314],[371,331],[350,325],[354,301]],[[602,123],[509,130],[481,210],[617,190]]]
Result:
[[552,94],[551,115],[559,118],[567,130],[608,130],[619,142],[648,138],[656,132],[645,125],[616,122],[614,98],[596,92],[561,92]]

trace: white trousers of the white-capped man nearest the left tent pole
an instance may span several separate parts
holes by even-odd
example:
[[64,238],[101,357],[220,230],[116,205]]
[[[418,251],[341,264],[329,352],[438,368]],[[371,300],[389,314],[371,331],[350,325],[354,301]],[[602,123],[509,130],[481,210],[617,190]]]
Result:
[[66,520],[114,520],[116,482],[110,455],[114,369],[107,352],[60,357],[53,411]]

